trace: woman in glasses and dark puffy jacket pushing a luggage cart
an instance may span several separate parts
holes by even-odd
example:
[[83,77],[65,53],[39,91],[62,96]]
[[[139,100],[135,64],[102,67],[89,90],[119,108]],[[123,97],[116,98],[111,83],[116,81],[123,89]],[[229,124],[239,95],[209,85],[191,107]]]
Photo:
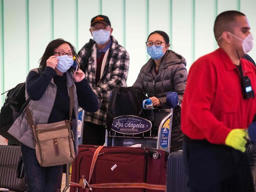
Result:
[[[151,58],[140,69],[138,78],[133,86],[142,88],[148,94],[154,108],[166,108],[166,94],[168,91],[177,92],[179,103],[181,103],[187,84],[185,58],[169,50],[169,37],[163,31],[154,31],[149,34],[146,46]],[[172,121],[170,151],[182,149],[182,142],[180,107],[176,107],[174,108]]]

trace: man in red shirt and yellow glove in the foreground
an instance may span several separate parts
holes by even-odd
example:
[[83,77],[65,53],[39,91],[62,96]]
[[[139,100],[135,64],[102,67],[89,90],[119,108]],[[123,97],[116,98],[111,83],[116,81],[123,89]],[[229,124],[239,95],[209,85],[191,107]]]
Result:
[[[244,152],[245,129],[256,114],[256,67],[241,58],[252,48],[249,22],[239,11],[225,11],[214,35],[220,48],[193,63],[182,103],[189,191],[254,192]],[[242,88],[245,76],[251,85]]]

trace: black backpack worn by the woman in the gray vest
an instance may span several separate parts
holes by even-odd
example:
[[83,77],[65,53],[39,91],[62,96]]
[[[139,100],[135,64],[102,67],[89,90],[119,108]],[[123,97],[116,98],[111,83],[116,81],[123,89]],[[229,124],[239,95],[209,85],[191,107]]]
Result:
[[[40,74],[41,69],[37,68],[37,70]],[[26,100],[25,98],[25,86],[26,82],[23,82],[15,86],[15,88],[6,91],[6,99],[0,111],[0,135],[9,140],[9,144],[20,144],[20,142],[7,131],[13,125],[14,121],[20,116],[30,101],[30,99]]]

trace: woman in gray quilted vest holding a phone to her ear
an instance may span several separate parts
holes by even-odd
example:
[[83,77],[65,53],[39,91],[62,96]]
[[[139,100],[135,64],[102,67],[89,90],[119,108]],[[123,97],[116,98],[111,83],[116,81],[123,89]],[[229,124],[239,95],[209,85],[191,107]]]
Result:
[[[99,101],[85,79],[84,73],[81,70],[75,73],[69,69],[73,65],[74,55],[75,48],[71,43],[63,39],[51,41],[40,60],[40,70],[32,69],[26,78],[25,95],[26,99],[31,99],[28,107],[33,112],[34,124],[55,123],[69,119],[68,90],[75,85],[71,129],[75,135],[74,146],[77,153],[78,105],[88,112],[96,112]],[[61,174],[63,166],[39,165],[26,110],[13,123],[9,133],[21,142],[28,184],[27,192],[55,192],[58,175]]]

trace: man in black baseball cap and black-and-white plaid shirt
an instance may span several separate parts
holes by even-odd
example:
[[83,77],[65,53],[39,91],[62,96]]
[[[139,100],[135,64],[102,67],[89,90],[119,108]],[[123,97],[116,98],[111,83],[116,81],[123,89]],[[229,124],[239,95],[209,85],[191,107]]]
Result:
[[93,17],[90,32],[93,39],[78,52],[77,60],[100,103],[97,112],[86,112],[82,144],[103,145],[109,95],[114,88],[126,86],[129,54],[112,36],[107,16]]

